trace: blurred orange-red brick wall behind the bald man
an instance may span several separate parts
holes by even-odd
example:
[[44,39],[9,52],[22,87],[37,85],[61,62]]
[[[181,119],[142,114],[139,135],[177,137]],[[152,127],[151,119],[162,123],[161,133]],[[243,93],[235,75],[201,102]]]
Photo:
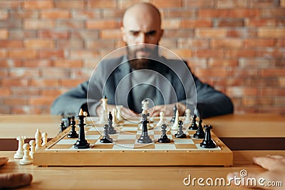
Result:
[[[0,113],[48,113],[123,46],[133,0],[0,1]],[[160,45],[229,95],[235,112],[285,113],[285,0],[149,0],[162,11]]]

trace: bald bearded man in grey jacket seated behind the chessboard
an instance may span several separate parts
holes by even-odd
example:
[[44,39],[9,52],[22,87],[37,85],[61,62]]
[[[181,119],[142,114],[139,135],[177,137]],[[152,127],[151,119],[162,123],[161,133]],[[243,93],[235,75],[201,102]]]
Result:
[[[147,3],[130,6],[125,11],[120,30],[127,45],[127,55],[102,60],[89,81],[53,102],[52,114],[77,114],[82,108],[89,115],[99,116],[102,110],[100,99],[105,95],[109,110],[115,105],[123,105],[121,114],[124,117],[137,116],[145,98],[153,103],[152,116],[158,116],[160,111],[172,115],[175,104],[180,115],[184,115],[186,108],[192,106],[189,102],[196,101],[196,93],[195,111],[200,117],[233,112],[229,97],[202,83],[190,73],[186,62],[169,60],[159,55],[158,46],[155,45],[159,44],[163,30],[160,11],[155,6]],[[147,73],[145,70],[152,72]]]

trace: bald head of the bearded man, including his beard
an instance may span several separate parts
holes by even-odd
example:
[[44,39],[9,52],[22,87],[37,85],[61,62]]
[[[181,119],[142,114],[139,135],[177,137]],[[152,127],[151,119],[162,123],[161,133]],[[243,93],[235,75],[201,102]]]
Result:
[[128,58],[135,59],[135,63],[130,61],[133,68],[147,68],[148,60],[142,58],[157,57],[157,46],[153,45],[158,45],[162,37],[160,26],[160,12],[152,4],[138,3],[125,11],[121,31],[128,46]]

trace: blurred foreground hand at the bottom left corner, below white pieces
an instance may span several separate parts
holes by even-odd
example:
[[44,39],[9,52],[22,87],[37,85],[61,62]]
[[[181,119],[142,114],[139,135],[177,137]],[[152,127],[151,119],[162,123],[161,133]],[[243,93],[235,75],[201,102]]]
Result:
[[[8,158],[0,158],[0,166],[8,162]],[[0,189],[16,188],[31,184],[33,176],[31,174],[0,174]]]

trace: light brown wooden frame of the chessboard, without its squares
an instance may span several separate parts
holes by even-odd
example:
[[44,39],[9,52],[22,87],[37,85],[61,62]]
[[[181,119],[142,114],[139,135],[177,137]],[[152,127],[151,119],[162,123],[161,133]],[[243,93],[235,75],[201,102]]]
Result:
[[48,166],[224,166],[233,164],[232,151],[213,133],[219,149],[71,149],[51,150],[71,127],[33,154],[33,164]]

